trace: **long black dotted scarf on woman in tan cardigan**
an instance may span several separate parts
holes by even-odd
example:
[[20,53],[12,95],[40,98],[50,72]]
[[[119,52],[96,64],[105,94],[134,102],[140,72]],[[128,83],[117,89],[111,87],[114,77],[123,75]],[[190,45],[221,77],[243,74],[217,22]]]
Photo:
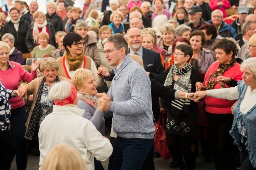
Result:
[[[46,81],[46,78],[44,77],[38,87],[38,92],[36,94],[36,99],[35,99],[35,106],[33,107],[32,111],[31,111],[31,117],[27,126],[27,130],[25,133],[25,138],[32,140],[33,136],[35,134],[35,128],[38,124],[38,119],[40,117],[41,114],[41,96],[43,93],[43,87],[44,87],[44,83]],[[59,76],[56,76],[56,80],[55,82],[59,82]],[[49,107],[49,109],[47,110],[46,115],[48,115],[49,113],[51,113],[53,111],[53,107]]]

